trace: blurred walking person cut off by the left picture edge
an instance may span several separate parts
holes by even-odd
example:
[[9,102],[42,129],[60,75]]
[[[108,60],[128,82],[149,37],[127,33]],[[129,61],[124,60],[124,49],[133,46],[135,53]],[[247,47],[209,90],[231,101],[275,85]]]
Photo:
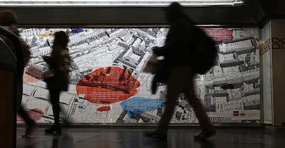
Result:
[[[23,39],[19,35],[19,32],[17,30],[18,29],[17,24],[18,24],[18,19],[17,19],[17,15],[14,12],[12,12],[10,10],[0,11],[0,25],[2,25],[3,28],[10,30],[10,32],[13,32],[14,34],[17,35],[19,42],[21,43],[21,48],[22,48],[22,52],[23,52],[23,66],[26,66],[26,65],[28,65],[28,61],[30,60],[30,54],[31,54],[30,46],[27,43],[25,43],[25,41],[23,41]],[[9,39],[7,39],[5,36],[0,36],[0,37],[4,41],[6,41],[6,43],[12,49],[14,54],[17,54],[15,49],[14,49],[14,45],[12,45],[12,42],[9,41]],[[34,127],[36,127],[36,122],[34,122],[34,120],[32,120],[32,118],[30,118],[28,113],[25,111],[23,105],[21,105],[22,94],[23,94],[23,79],[21,79],[17,83],[19,84],[19,86],[17,86],[18,91],[19,91],[19,93],[17,93],[18,94],[18,96],[17,96],[17,112],[21,116],[21,118],[23,118],[25,123],[27,124],[27,128],[25,129],[25,134],[23,136],[30,136],[32,134]]]

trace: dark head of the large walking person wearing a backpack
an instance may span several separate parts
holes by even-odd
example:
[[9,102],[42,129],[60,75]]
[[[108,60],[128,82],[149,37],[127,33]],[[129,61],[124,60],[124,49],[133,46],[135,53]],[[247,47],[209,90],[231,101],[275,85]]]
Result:
[[173,2],[165,8],[165,13],[169,23],[185,15],[182,6],[178,2]]

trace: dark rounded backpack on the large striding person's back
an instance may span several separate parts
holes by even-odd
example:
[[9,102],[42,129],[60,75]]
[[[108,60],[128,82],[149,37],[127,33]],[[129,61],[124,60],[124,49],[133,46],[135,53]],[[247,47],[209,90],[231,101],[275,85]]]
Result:
[[215,41],[200,28],[193,29],[194,45],[192,46],[192,57],[195,61],[194,73],[205,74],[216,64],[218,49]]

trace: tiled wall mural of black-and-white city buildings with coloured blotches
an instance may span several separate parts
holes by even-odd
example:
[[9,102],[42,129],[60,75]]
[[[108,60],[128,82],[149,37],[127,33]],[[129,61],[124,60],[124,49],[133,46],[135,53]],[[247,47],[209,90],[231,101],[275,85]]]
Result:
[[[196,76],[196,94],[213,123],[260,123],[258,28],[203,28],[217,41],[218,64]],[[166,85],[151,94],[152,74],[142,72],[151,48],[168,28],[21,28],[32,59],[23,76],[23,105],[37,123],[53,123],[45,82],[53,33],[70,32],[70,87],[61,93],[61,120],[72,123],[157,123]],[[191,48],[191,47],[189,47]],[[17,122],[23,122],[20,117]],[[183,94],[171,123],[198,123]]]

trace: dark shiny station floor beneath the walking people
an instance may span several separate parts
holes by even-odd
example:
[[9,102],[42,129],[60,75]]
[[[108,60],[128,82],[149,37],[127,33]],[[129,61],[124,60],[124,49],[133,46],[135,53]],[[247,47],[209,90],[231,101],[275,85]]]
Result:
[[25,128],[17,127],[17,147],[24,148],[271,148],[285,147],[285,128],[230,127],[218,128],[208,140],[194,140],[198,127],[170,128],[168,138],[146,138],[151,128],[68,127],[61,135],[44,134],[43,127],[35,129],[30,137],[22,137]]

